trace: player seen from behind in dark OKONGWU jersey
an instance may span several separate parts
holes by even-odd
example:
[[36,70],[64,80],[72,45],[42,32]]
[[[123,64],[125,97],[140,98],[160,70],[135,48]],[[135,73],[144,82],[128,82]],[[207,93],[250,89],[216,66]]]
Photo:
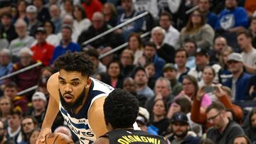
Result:
[[132,94],[114,89],[105,99],[103,111],[109,132],[100,136],[94,144],[166,143],[160,136],[134,130],[132,124],[139,113],[139,101]]

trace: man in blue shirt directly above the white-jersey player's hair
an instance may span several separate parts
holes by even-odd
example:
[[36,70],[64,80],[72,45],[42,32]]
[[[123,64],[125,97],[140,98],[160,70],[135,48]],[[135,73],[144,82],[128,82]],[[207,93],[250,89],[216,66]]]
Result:
[[50,60],[50,64],[53,64],[54,60],[60,56],[65,54],[66,52],[80,52],[80,45],[72,42],[72,27],[69,25],[64,25],[61,33],[62,40],[60,41],[60,45],[55,47],[53,52],[53,57]]

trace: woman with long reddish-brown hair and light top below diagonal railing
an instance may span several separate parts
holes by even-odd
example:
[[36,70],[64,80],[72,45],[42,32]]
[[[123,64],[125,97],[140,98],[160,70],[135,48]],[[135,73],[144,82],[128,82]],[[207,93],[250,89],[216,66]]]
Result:
[[137,65],[139,57],[143,55],[142,39],[138,33],[132,33],[128,38],[128,49],[134,52],[134,65]]

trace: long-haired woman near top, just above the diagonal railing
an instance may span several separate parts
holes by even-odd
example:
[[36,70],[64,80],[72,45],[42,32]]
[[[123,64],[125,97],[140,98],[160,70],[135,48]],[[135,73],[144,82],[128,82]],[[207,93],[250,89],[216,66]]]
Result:
[[117,11],[114,5],[111,3],[105,3],[102,7],[102,13],[104,14],[105,22],[114,27],[117,25]]

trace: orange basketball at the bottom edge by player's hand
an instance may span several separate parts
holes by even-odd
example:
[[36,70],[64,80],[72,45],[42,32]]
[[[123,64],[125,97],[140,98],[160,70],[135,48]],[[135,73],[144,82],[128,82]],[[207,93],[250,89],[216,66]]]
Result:
[[63,133],[50,133],[46,135],[46,144],[75,144],[68,135]]

